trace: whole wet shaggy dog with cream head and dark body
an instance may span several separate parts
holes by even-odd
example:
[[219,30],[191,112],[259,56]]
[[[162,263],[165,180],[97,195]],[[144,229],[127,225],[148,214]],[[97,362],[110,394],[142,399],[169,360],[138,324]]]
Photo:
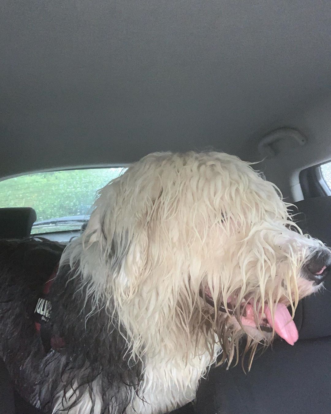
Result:
[[193,400],[218,357],[237,361],[242,340],[249,365],[277,334],[294,344],[297,303],[331,257],[287,207],[235,156],[157,153],[100,190],[63,253],[2,242],[0,350],[17,387],[46,413],[159,414]]

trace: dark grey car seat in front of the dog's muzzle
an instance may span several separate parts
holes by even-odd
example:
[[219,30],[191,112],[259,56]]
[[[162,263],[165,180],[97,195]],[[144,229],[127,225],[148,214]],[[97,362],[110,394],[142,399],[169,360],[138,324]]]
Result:
[[[331,197],[296,203],[304,232],[331,246]],[[300,221],[299,221],[300,220]],[[278,340],[254,358],[246,375],[238,364],[213,368],[197,392],[199,414],[331,413],[331,280],[300,301],[295,313],[299,340]]]

